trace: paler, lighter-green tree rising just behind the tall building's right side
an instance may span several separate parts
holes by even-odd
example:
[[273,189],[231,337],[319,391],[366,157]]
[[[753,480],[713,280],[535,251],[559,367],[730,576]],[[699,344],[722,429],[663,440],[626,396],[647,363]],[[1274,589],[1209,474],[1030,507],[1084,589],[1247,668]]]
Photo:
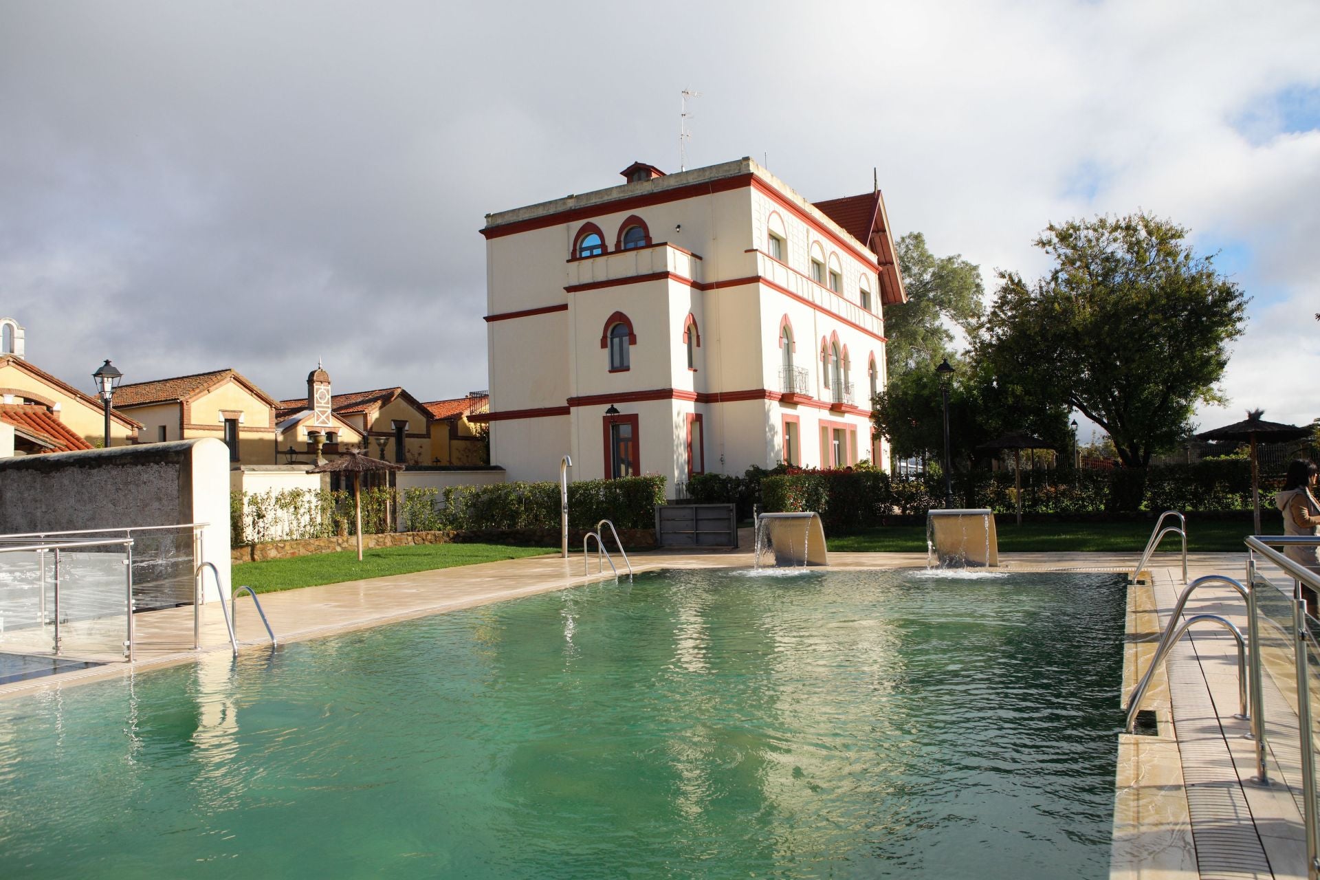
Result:
[[884,309],[890,376],[940,363],[953,340],[945,321],[970,332],[985,310],[979,267],[958,255],[936,257],[920,232],[904,235],[895,251],[908,301]]

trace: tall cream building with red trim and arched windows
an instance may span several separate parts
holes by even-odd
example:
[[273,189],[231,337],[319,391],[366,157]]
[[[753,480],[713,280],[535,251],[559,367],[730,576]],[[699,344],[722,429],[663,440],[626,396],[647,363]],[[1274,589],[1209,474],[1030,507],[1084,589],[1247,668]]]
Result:
[[884,201],[750,158],[486,218],[491,462],[510,479],[846,467],[904,301]]

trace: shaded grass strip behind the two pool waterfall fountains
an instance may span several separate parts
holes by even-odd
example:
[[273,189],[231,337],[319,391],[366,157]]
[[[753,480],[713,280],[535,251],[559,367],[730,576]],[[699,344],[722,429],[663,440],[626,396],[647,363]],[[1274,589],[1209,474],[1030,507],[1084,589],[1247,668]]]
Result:
[[[1168,520],[1164,525],[1177,525]],[[1142,522],[1014,522],[1012,515],[995,516],[995,532],[999,536],[999,550],[1005,553],[1031,551],[1100,551],[1131,553],[1140,555],[1146,541],[1151,537],[1155,521]],[[1283,522],[1276,512],[1261,517],[1261,529],[1266,534],[1280,534]],[[1242,538],[1251,533],[1250,520],[1204,520],[1188,517],[1188,551],[1243,551]],[[830,550],[873,551],[873,553],[924,553],[924,525],[894,525],[867,529],[857,534],[837,534],[826,537]],[[1166,536],[1160,550],[1173,550],[1179,546],[1176,534]]]

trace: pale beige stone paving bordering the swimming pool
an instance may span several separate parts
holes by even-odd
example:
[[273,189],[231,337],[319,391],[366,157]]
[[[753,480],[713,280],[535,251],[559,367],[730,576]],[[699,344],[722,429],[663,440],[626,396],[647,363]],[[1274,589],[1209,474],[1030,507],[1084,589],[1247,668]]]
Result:
[[[638,573],[656,569],[750,567],[750,551],[667,553],[632,557]],[[1010,571],[1127,571],[1133,554],[1001,554]],[[830,567],[924,567],[917,553],[833,553]],[[1225,574],[1242,578],[1245,554],[1192,554],[1188,578]],[[1150,584],[1129,591],[1123,694],[1150,664],[1155,641],[1181,588],[1172,554],[1148,566]],[[503,602],[601,581],[583,575],[582,558],[557,555],[418,571],[368,581],[305,587],[261,595],[281,643],[330,636],[459,608]],[[1185,615],[1222,613],[1243,631],[1245,608],[1229,588],[1205,588]],[[244,650],[264,650],[268,639],[252,602],[238,602],[238,639]],[[219,606],[201,610],[201,649],[193,648],[193,610],[173,608],[136,616],[137,660],[0,685],[0,699],[185,662],[230,652]],[[1158,735],[1119,735],[1115,776],[1114,838],[1110,876],[1122,880],[1164,877],[1305,877],[1300,780],[1294,743],[1290,757],[1271,755],[1275,782],[1261,786],[1246,722],[1236,719],[1236,648],[1221,631],[1193,631],[1172,653],[1167,673],[1156,676],[1146,706],[1155,710]],[[1280,670],[1276,674],[1286,674]],[[1267,714],[1295,711],[1266,677]],[[1172,683],[1172,689],[1170,685]],[[1271,744],[1286,751],[1286,743]]]

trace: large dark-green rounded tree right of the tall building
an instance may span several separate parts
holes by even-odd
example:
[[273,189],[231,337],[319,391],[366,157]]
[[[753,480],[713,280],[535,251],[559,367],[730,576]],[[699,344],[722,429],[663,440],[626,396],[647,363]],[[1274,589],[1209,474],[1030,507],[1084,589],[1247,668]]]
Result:
[[1105,429],[1119,460],[1144,467],[1191,433],[1199,401],[1242,334],[1247,298],[1148,214],[1051,224],[1036,240],[1053,259],[1027,282],[999,273],[978,355],[999,381],[1051,392]]

